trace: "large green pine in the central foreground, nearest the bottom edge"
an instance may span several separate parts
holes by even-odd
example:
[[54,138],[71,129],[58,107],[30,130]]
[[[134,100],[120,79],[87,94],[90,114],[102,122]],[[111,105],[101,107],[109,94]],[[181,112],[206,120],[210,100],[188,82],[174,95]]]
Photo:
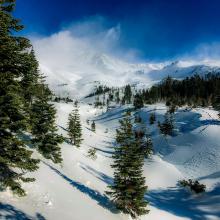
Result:
[[133,218],[148,213],[144,194],[147,187],[142,176],[144,152],[141,139],[135,137],[130,113],[119,121],[120,128],[116,130],[115,152],[113,155],[114,183],[107,192],[112,197],[116,207]]

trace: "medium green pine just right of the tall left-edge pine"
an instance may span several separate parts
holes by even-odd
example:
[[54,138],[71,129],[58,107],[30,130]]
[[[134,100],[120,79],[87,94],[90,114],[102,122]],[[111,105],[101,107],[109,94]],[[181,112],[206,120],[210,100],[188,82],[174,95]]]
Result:
[[38,91],[38,97],[31,107],[32,142],[46,159],[61,163],[59,144],[63,142],[63,137],[57,134],[56,109],[50,103],[51,92],[44,84],[39,85]]

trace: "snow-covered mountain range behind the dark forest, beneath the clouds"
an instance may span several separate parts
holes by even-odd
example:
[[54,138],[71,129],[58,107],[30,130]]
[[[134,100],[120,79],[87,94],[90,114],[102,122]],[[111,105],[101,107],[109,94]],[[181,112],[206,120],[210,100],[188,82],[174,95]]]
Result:
[[39,56],[40,68],[47,76],[50,87],[57,95],[84,97],[97,84],[124,86],[134,84],[137,88],[149,87],[163,78],[184,78],[194,74],[220,72],[218,63],[208,62],[164,62],[129,63],[94,51],[81,52],[74,60],[56,65]]

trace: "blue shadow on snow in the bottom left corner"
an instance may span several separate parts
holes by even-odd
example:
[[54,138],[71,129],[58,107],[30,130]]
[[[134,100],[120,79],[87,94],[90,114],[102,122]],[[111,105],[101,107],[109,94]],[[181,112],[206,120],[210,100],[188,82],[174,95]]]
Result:
[[23,211],[15,208],[10,204],[0,202],[0,219],[8,220],[46,220],[40,213],[36,213],[35,217],[27,215]]

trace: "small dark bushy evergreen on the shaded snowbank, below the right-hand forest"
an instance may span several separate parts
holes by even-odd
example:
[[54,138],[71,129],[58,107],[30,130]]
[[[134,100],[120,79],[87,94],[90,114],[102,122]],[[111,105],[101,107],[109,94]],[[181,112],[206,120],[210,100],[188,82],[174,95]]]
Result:
[[170,114],[169,112],[166,112],[164,115],[164,121],[163,123],[158,122],[158,127],[160,129],[160,132],[167,136],[167,135],[173,135],[173,129],[174,129],[174,119],[173,114]]

